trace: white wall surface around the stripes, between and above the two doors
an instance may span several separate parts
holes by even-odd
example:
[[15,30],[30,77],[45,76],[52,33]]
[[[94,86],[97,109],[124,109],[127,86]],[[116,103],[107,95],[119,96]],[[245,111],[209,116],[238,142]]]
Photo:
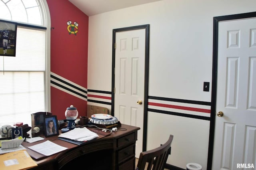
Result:
[[[150,24],[148,95],[211,102],[211,90],[202,88],[212,83],[213,17],[255,11],[255,0],[162,0],[91,16],[88,89],[111,91],[112,30]],[[209,127],[209,121],[149,112],[147,149],[174,134],[167,163],[206,169]]]

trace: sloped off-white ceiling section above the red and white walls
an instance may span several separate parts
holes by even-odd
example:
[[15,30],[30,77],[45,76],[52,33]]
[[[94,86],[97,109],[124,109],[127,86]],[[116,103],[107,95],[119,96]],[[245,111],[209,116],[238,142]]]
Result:
[[128,8],[131,6],[147,4],[160,0],[69,0],[84,14],[93,16],[103,12]]

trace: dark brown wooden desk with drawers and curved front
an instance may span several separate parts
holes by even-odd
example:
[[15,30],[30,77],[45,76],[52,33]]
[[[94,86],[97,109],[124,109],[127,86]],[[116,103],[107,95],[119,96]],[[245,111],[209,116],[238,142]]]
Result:
[[[86,142],[80,146],[59,140],[58,136],[51,136],[45,140],[32,144],[23,142],[27,147],[50,140],[56,144],[67,147],[68,150],[35,160],[37,167],[31,170],[134,170],[135,169],[135,143],[137,140],[138,127],[122,125],[118,130],[109,136],[101,137]],[[28,152],[30,153],[30,149]],[[33,152],[33,151],[32,151]]]

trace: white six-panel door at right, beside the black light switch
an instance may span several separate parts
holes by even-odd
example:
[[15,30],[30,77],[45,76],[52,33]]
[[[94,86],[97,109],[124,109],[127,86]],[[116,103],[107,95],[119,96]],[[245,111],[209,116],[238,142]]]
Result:
[[256,18],[219,22],[216,94],[212,169],[255,170]]

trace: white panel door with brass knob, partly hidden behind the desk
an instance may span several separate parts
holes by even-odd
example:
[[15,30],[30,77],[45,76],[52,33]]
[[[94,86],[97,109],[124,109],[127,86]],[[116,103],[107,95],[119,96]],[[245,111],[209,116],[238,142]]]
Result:
[[[120,123],[140,127],[136,157],[142,152],[145,29],[116,33],[114,115]],[[142,103],[137,103],[142,101]]]

